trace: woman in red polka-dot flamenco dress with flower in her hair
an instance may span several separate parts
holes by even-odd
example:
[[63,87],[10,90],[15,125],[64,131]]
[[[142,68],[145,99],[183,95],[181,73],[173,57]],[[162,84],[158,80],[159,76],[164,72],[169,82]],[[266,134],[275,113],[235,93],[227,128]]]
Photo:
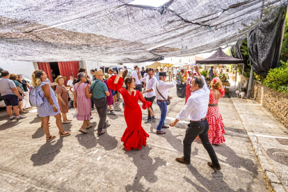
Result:
[[211,145],[221,145],[225,142],[224,138],[224,123],[222,116],[219,112],[218,102],[221,97],[225,96],[225,90],[222,87],[221,80],[215,77],[211,81],[210,95],[209,95],[209,105],[206,118],[209,122],[208,137]]

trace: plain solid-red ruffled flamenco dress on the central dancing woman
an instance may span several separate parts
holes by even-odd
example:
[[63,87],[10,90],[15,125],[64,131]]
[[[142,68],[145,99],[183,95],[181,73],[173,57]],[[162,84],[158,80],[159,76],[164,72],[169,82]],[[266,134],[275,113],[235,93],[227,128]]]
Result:
[[[118,90],[122,95],[125,108],[124,117],[127,124],[121,141],[125,147],[125,150],[131,150],[131,148],[137,148],[141,150],[142,145],[146,146],[146,139],[149,134],[141,126],[142,123],[142,111],[138,104],[138,100],[143,102],[142,109],[147,109],[152,105],[152,102],[147,102],[141,93],[136,90],[136,95],[130,95],[125,88],[122,88],[123,79],[120,77],[118,83],[114,83],[116,76],[112,76],[108,80],[108,87],[112,90]],[[135,92],[133,92],[135,94]]]

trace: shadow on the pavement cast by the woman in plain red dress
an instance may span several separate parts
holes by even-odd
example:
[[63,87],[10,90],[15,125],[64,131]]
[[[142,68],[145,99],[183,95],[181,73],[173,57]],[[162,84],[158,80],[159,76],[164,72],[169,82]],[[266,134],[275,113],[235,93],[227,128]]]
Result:
[[166,161],[159,157],[155,157],[155,163],[153,163],[153,159],[149,157],[150,150],[152,150],[152,148],[147,145],[139,151],[131,150],[125,152],[128,157],[133,158],[133,163],[137,167],[134,182],[125,187],[126,191],[150,191],[149,188],[145,189],[143,184],[139,182],[142,177],[144,177],[147,182],[157,182],[158,177],[155,175],[155,172],[160,166],[166,166]]

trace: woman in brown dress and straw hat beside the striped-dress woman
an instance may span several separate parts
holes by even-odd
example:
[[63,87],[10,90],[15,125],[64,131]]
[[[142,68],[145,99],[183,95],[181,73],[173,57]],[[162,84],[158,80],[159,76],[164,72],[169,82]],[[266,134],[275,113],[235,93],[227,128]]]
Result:
[[57,99],[60,111],[62,113],[63,124],[67,124],[72,121],[67,119],[67,113],[69,111],[69,95],[64,85],[65,79],[66,77],[62,77],[61,75],[58,75],[58,77],[55,79],[55,82],[58,83],[56,86],[56,93],[58,96]]

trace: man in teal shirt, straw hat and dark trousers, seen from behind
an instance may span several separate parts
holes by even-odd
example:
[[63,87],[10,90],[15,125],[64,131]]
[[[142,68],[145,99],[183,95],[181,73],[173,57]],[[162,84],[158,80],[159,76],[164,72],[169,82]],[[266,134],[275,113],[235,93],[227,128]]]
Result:
[[106,122],[106,116],[107,116],[107,99],[109,91],[103,80],[103,72],[102,71],[97,71],[94,73],[94,76],[96,78],[95,81],[91,84],[90,90],[93,95],[93,102],[96,106],[98,115],[99,115],[99,124],[98,124],[98,129],[97,129],[97,134],[98,136],[101,136],[102,134],[105,133],[103,131],[104,128],[109,127],[110,125],[108,122]]

